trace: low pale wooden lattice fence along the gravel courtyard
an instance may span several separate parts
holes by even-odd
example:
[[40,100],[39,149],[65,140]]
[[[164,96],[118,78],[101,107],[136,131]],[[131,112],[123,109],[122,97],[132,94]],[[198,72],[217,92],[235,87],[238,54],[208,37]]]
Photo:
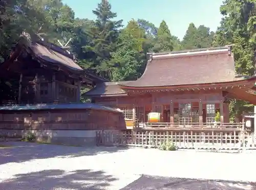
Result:
[[97,145],[104,146],[156,148],[170,141],[179,149],[256,149],[256,136],[244,132],[96,132]]

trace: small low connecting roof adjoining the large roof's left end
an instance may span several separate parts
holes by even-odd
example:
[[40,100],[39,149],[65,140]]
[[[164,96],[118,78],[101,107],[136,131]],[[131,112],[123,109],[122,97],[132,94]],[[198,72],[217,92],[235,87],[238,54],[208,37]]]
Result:
[[121,89],[119,84],[125,84],[127,82],[109,82],[109,83],[100,83],[96,87],[83,95],[86,96],[122,96],[127,95],[124,90]]

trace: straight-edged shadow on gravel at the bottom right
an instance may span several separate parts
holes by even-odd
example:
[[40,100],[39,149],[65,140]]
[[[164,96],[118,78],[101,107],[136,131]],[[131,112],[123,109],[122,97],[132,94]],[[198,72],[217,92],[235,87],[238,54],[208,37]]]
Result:
[[255,183],[222,181],[222,180],[199,180],[185,178],[167,178],[160,176],[142,175],[133,183],[120,190],[254,190]]

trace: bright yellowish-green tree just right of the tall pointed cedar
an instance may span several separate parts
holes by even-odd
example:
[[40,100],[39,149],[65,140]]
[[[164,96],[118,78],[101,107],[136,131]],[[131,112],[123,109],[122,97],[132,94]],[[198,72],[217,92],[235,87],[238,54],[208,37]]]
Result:
[[117,65],[112,69],[112,80],[132,80],[140,76],[138,70],[145,61],[143,43],[145,31],[138,22],[131,20],[122,30],[117,51],[113,53],[113,63]]

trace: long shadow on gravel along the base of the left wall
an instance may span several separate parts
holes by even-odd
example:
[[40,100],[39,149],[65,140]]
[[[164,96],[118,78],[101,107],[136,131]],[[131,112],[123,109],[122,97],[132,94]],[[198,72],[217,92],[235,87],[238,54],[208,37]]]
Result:
[[0,165],[8,162],[24,162],[31,159],[52,157],[79,157],[121,152],[127,147],[71,147],[27,142],[1,143],[9,147],[0,149]]

